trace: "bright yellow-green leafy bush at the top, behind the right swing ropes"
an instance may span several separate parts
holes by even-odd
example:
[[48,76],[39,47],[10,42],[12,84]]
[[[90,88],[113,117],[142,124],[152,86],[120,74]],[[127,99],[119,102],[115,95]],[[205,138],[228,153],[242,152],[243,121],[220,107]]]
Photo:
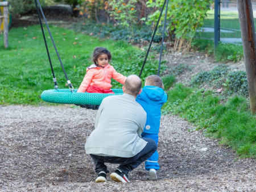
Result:
[[[170,31],[175,31],[177,39],[186,39],[191,41],[196,35],[196,29],[203,26],[203,20],[207,16],[209,5],[212,0],[201,1],[180,1],[169,2],[167,20]],[[148,7],[162,7],[164,0],[148,1]],[[166,14],[166,13],[164,13]],[[155,23],[159,18],[160,11],[156,10],[148,15],[146,24]],[[164,19],[161,18],[162,20]]]

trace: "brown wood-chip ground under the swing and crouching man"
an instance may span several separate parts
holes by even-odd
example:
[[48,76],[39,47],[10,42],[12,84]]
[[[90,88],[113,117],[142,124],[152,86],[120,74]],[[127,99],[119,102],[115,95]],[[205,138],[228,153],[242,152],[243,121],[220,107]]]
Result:
[[[84,143],[96,111],[71,106],[0,106],[0,191],[256,191],[255,160],[164,115],[159,133],[158,180],[144,165],[131,183],[95,183]],[[117,165],[108,164],[110,172]]]

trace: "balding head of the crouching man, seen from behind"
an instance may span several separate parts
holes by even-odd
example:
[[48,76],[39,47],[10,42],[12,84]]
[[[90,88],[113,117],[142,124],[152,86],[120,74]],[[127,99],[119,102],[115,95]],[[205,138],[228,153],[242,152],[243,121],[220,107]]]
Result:
[[141,79],[137,75],[132,74],[125,80],[124,93],[131,94],[136,97],[139,94],[139,91],[141,91],[141,86]]

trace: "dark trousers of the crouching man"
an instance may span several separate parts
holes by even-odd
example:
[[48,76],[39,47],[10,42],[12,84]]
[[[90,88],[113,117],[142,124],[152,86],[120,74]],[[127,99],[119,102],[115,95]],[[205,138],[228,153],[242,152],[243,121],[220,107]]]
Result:
[[153,139],[150,138],[142,138],[147,141],[147,145],[139,152],[137,155],[133,157],[112,157],[112,156],[98,156],[92,155],[92,160],[95,165],[96,173],[100,173],[104,171],[105,173],[109,173],[107,166],[104,164],[105,162],[109,162],[112,164],[119,164],[118,168],[123,173],[129,173],[131,170],[137,168],[143,161],[146,161],[152,154],[156,151],[157,145]]

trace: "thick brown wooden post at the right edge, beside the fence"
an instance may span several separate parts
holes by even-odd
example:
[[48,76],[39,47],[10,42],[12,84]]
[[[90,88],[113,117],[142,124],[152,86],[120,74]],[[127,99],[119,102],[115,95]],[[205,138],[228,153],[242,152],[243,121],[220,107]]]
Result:
[[251,113],[256,113],[256,35],[251,0],[237,0]]

